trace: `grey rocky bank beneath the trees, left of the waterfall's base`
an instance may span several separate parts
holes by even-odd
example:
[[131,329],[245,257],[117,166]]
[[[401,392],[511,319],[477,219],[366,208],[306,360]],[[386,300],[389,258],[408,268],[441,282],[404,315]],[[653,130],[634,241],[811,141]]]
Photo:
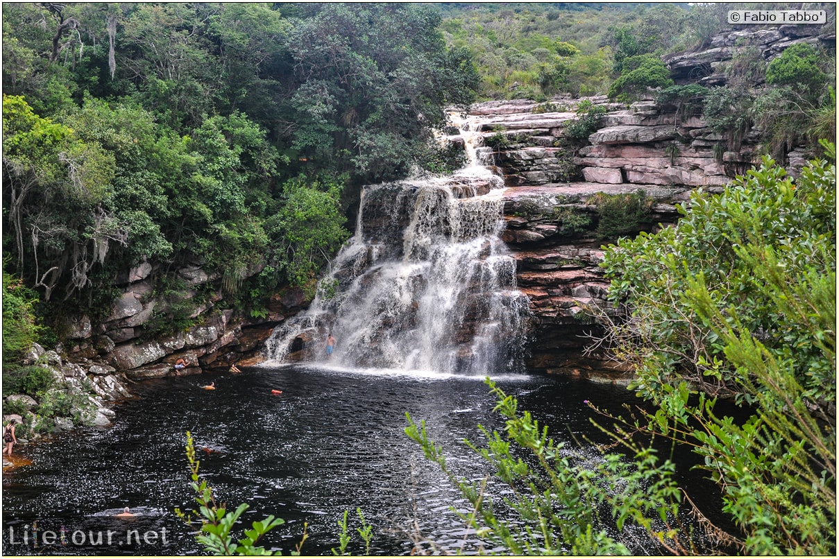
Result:
[[[197,375],[206,367],[226,368],[234,361],[248,360],[248,364],[255,365],[259,360],[259,346],[271,329],[305,306],[306,297],[300,289],[287,289],[271,299],[267,316],[234,320],[232,309],[216,308],[221,300],[217,274],[207,273],[198,264],[182,267],[175,273],[185,287],[180,292],[160,296],[154,291],[155,272],[159,271],[152,264],[142,262],[117,274],[115,281],[122,287],[122,296],[117,298],[107,318],[102,323],[92,324],[89,318],[82,316],[67,325],[70,341],[65,348],[67,359],[94,362],[89,372],[93,390],[100,396],[122,393],[118,386],[107,380],[115,371],[137,380]],[[248,272],[258,273],[259,270]],[[198,292],[204,292],[204,295],[198,297]],[[186,307],[181,312],[194,318],[195,326],[173,334],[150,335],[149,329],[159,327],[159,324],[154,326],[154,321],[164,321],[161,317],[165,317],[175,303]],[[55,359],[60,360],[57,355]],[[175,361],[179,359],[189,365],[175,369]]]

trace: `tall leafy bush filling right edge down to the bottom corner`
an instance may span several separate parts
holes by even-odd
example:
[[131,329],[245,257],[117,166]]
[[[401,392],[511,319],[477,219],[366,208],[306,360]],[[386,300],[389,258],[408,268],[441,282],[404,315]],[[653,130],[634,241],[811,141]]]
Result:
[[[608,248],[609,296],[632,313],[608,343],[659,406],[646,428],[695,448],[724,489],[744,554],[833,556],[836,165],[793,184],[764,158],[684,213]],[[715,414],[725,394],[748,421]]]

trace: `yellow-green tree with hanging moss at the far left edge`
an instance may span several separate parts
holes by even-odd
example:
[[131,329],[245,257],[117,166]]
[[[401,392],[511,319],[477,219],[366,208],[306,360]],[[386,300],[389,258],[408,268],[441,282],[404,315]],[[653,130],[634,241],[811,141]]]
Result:
[[3,97],[3,197],[18,267],[44,287],[45,300],[62,282],[65,297],[89,286],[111,243],[125,243],[103,205],[115,171],[97,142],[35,115],[22,97]]

